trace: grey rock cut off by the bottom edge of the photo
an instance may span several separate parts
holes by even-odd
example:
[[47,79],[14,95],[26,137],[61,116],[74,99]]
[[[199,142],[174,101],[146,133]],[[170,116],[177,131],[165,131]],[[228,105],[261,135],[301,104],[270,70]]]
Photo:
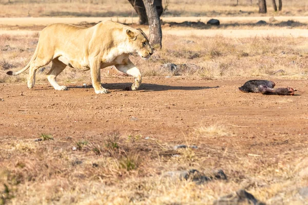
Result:
[[246,192],[243,189],[238,190],[235,193],[220,197],[215,200],[214,205],[237,205],[237,204],[255,204],[265,205],[265,203],[258,201],[252,194]]

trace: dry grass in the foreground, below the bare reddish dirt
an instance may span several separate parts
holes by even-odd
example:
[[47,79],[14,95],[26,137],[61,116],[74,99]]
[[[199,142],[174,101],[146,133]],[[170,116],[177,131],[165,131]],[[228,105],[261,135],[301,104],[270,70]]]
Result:
[[[215,130],[221,133],[217,126]],[[197,144],[204,141],[194,132],[191,137]],[[74,151],[74,140],[87,143]],[[0,142],[0,191],[9,191],[2,194],[8,204],[211,204],[240,188],[268,204],[281,200],[304,204],[298,197],[298,189],[307,183],[308,155],[303,147],[279,155],[259,150],[249,156],[237,146],[203,145],[163,155],[158,154],[168,150],[163,142],[119,132],[85,139],[1,138]],[[207,176],[223,169],[228,181],[196,185],[161,177],[167,171],[187,169]]]

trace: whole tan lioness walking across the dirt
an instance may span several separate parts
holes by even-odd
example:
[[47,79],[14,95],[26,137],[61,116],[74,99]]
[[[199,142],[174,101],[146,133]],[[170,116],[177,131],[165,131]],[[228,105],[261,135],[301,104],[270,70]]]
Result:
[[29,69],[28,88],[33,88],[35,72],[52,61],[47,79],[55,90],[66,90],[55,81],[66,66],[84,71],[90,70],[95,93],[108,93],[101,85],[100,69],[115,66],[119,71],[135,77],[131,86],[137,90],[141,84],[141,73],[129,60],[130,53],[149,58],[153,53],[145,33],[123,24],[106,20],[93,27],[84,28],[68,24],[53,24],[44,28],[38,39],[35,52],[28,65],[18,75]]

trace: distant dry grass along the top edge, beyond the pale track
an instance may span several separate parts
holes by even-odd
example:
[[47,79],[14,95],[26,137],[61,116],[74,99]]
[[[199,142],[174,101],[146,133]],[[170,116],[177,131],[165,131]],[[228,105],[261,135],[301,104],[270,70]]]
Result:
[[[44,0],[44,1],[0,1],[2,17],[26,16],[131,16],[132,7],[127,0]],[[170,0],[165,16],[259,16],[257,0],[252,4],[247,0],[203,1]],[[278,4],[278,1],[277,1]],[[166,0],[163,0],[166,6]],[[283,2],[281,12],[274,12],[271,2],[267,3],[268,16],[307,15],[308,3],[304,0]],[[120,8],[120,9],[119,9]],[[137,16],[133,12],[134,16]]]

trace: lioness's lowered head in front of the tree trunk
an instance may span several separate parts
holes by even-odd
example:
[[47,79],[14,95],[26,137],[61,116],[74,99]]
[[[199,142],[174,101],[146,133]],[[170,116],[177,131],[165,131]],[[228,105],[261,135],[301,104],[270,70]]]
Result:
[[129,37],[129,42],[134,52],[138,53],[143,58],[149,58],[153,54],[149,40],[141,29],[137,29],[136,32],[126,30],[126,34]]

